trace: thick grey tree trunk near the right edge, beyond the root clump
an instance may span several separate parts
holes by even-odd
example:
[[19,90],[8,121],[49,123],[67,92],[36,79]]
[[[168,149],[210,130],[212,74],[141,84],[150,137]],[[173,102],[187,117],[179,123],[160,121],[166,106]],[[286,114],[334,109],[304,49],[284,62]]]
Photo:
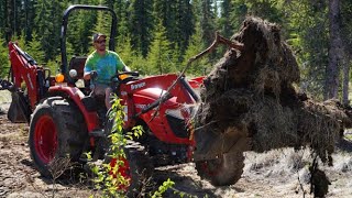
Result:
[[339,91],[339,63],[341,61],[341,37],[340,37],[340,0],[329,1],[329,31],[330,31],[330,46],[329,46],[329,64],[326,68],[326,86],[324,99],[338,98]]

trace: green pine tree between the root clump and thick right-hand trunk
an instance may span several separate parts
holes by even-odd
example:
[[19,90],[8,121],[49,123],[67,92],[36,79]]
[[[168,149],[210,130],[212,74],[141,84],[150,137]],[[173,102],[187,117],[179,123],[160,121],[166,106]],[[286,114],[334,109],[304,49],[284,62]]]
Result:
[[292,1],[283,8],[289,15],[288,44],[300,65],[300,88],[322,99],[324,65],[328,64],[327,4]]

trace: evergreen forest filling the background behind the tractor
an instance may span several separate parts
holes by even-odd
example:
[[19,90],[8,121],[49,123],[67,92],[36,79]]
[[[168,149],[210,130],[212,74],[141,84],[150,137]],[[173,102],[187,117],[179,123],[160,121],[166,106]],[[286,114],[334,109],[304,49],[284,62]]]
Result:
[[[1,0],[1,78],[9,73],[10,41],[57,73],[63,13],[72,4],[111,8],[118,16],[116,52],[142,75],[182,70],[212,43],[217,31],[230,38],[246,16],[275,22],[298,61],[299,88],[318,99],[349,102],[352,1],[342,0]],[[105,12],[73,13],[68,57],[91,53],[92,33],[109,34],[110,25]],[[224,51],[219,47],[193,63],[186,75],[207,75]]]

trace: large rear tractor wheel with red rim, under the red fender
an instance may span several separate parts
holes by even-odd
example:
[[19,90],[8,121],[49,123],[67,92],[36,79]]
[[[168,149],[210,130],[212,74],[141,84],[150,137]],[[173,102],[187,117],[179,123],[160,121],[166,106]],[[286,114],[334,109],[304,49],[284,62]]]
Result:
[[56,174],[50,167],[53,162],[79,161],[88,141],[85,123],[79,109],[62,97],[51,97],[37,105],[30,122],[29,144],[31,157],[43,176],[53,178]]

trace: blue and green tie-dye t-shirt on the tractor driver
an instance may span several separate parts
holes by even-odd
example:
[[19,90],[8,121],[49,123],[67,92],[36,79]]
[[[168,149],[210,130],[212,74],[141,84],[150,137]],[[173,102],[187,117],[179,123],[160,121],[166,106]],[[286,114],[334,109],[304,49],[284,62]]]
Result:
[[117,74],[118,70],[122,70],[124,63],[120,56],[112,51],[107,51],[103,56],[100,56],[97,51],[91,53],[86,61],[85,73],[96,70],[98,77],[96,81],[98,84],[110,84],[110,78]]

